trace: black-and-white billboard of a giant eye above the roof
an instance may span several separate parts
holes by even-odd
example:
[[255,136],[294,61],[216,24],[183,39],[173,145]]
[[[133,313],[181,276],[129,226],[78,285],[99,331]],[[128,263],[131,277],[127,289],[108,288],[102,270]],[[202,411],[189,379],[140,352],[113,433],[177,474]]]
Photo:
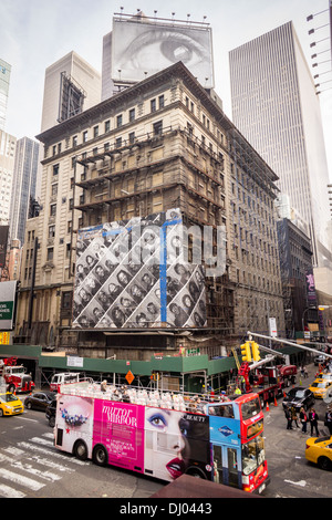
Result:
[[210,28],[113,19],[113,81],[138,82],[179,61],[204,87],[215,86]]

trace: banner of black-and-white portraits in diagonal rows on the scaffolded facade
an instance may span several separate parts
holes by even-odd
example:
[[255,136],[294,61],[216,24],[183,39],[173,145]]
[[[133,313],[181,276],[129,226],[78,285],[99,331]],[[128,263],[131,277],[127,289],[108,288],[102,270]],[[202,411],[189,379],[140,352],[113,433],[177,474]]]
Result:
[[79,230],[73,325],[205,326],[205,270],[183,232],[178,209]]

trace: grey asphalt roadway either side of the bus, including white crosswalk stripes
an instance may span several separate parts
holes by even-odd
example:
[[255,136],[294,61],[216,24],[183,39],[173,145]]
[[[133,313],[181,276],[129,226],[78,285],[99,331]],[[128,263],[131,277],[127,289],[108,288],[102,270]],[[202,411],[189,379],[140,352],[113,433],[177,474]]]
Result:
[[[309,365],[309,386],[317,367]],[[299,384],[299,376],[297,385]],[[326,405],[315,402],[319,429],[324,433]],[[287,430],[281,399],[264,412],[266,454],[271,482],[266,498],[331,497],[332,471],[305,460],[301,429]],[[128,471],[102,468],[56,450],[44,413],[25,409],[22,416],[0,419],[1,498],[121,498],[148,499],[163,482]]]

